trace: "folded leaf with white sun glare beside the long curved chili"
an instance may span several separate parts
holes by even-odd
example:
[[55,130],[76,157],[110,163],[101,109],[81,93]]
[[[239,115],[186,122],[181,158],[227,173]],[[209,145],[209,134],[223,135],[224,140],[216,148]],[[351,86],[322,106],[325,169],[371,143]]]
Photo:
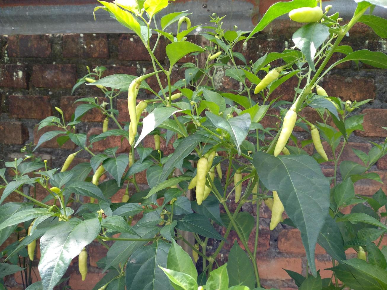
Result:
[[[168,44],[169,45],[169,44]],[[142,131],[134,147],[137,147],[142,139],[144,139],[149,133],[151,133],[157,126],[163,123],[173,114],[180,112],[173,107],[158,107],[149,113],[144,119],[142,119]]]

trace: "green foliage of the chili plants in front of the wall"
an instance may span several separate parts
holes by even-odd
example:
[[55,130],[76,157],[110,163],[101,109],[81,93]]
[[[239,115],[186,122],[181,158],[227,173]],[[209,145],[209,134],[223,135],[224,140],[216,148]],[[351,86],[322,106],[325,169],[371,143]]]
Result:
[[[340,45],[356,22],[363,22],[385,38],[387,20],[366,14],[373,5],[385,5],[379,0],[356,1],[359,4],[353,18],[343,25],[338,13],[330,16],[325,13],[321,21],[305,24],[294,32],[293,49],[270,52],[247,63],[241,53],[233,51],[238,43],[248,41],[274,19],[293,9],[315,7],[315,0],[275,3],[252,32],[236,31],[236,28],[226,31],[222,28],[224,17],[216,14],[210,16],[212,26],[204,27],[191,27],[187,18],[181,18],[190,15],[187,11],[172,12],[159,20],[158,13],[168,6],[166,0],[99,2],[103,6],[94,11],[106,10],[110,17],[139,36],[151,57],[154,72],[138,77],[126,74],[104,76],[106,68],[90,70],[87,67],[88,73],[74,85],[73,92],[85,83],[95,85],[104,93],[106,102],[99,103],[92,97],[77,100],[82,104],[77,106],[68,122],[63,116],[66,108],[57,108],[58,117],[49,116],[38,126],[39,130],[46,126],[55,126],[56,130],[43,134],[35,148],[31,145],[23,147],[25,160],[5,162],[6,168],[0,169],[0,178],[4,182],[0,185],[3,189],[0,244],[15,231],[24,239],[10,244],[2,252],[0,279],[17,271],[31,272],[26,246],[40,239],[38,269],[41,281],[32,283],[28,279],[24,286],[30,290],[51,290],[63,281],[62,276],[71,260],[92,241],[97,241],[108,248],[106,257],[97,262],[98,267],[108,273],[94,286],[96,290],[122,290],[125,287],[196,290],[199,285],[207,290],[264,289],[259,280],[257,249],[251,249],[252,244],[258,243],[259,235],[251,236],[254,227],[255,232],[258,230],[259,210],[255,220],[241,208],[246,203],[257,203],[258,207],[263,201],[270,204],[271,192],[277,191],[279,203],[283,203],[289,217],[283,224],[300,230],[306,251],[306,276],[291,269],[285,270],[300,289],[341,289],[338,280],[343,283],[342,287],[355,290],[387,288],[387,248],[380,248],[387,232],[382,222],[386,214],[381,210],[386,207],[387,198],[382,189],[361,195],[354,190],[355,184],[363,179],[382,183],[380,176],[370,169],[387,154],[387,143],[372,143],[369,152],[353,149],[361,163],[343,160],[338,166],[342,151],[348,146],[348,138],[354,131],[364,130],[363,115],[351,112],[371,100],[348,102],[329,96],[330,87],[326,87],[326,91],[317,87],[332,68],[345,61],[387,68],[387,56],[382,52],[353,51],[348,45]],[[166,28],[171,29],[175,22],[179,22],[179,31],[166,32]],[[188,29],[180,30],[182,22],[186,22]],[[200,35],[209,42],[205,48],[187,40],[187,35],[198,27]],[[152,32],[157,32],[157,39],[151,45]],[[167,68],[153,53],[161,36],[170,41],[166,46]],[[327,66],[335,52],[344,56]],[[182,65],[185,79],[171,84],[173,67],[184,56],[192,56],[195,61]],[[198,61],[199,58],[205,63]],[[236,59],[242,65],[237,65]],[[255,85],[261,82],[258,75],[272,70],[273,61],[281,63],[277,67],[276,79],[267,83],[258,96],[253,96]],[[236,80],[239,89],[221,91],[214,80],[219,72]],[[147,78],[152,75],[157,75],[158,92],[147,84]],[[161,76],[166,78],[167,87],[159,81]],[[294,101],[281,100],[277,88],[294,79],[299,81],[294,90]],[[146,106],[142,102],[147,115],[144,118],[139,115],[144,107],[139,112],[130,107],[132,113],[136,111],[131,116],[137,116],[137,120],[130,120],[132,126],[127,122],[122,125],[117,121],[119,112],[111,105],[120,95],[126,97],[129,94],[135,98],[137,88],[152,94],[151,99],[145,100]],[[334,174],[330,179],[322,174],[319,165],[325,160],[319,154],[309,156],[303,149],[312,140],[298,142],[296,136],[291,135],[295,146],[286,142],[283,150],[284,154],[289,151],[289,155],[273,156],[282,131],[288,130],[289,133],[293,130],[284,125],[290,106],[291,111],[297,113],[296,125],[303,128],[305,134],[311,127],[316,127],[320,138],[327,143],[324,149],[330,151],[327,155],[333,157],[329,162],[334,164]],[[276,128],[264,128],[261,120],[270,116],[267,113],[270,108],[276,107],[281,111],[280,116],[275,116]],[[305,107],[315,109],[320,120],[312,124],[305,119],[301,114]],[[82,116],[91,109],[100,111],[114,128],[89,138],[76,133]],[[330,117],[335,127],[327,123]],[[171,143],[174,152],[167,155],[166,151],[160,150],[163,146],[144,147],[144,138],[152,135]],[[122,141],[132,140],[130,154],[117,153],[118,147],[105,148],[103,153],[95,154],[95,142],[109,136],[118,136]],[[89,155],[90,161],[70,170],[69,164],[61,169],[50,168],[33,152],[54,138],[59,145],[72,142],[77,146],[78,151],[70,157]],[[214,156],[215,153],[220,156]],[[200,172],[207,170],[207,176],[202,180],[195,177],[195,162],[199,158],[209,160],[208,168],[200,168]],[[218,165],[227,167],[228,171],[222,173]],[[136,174],[144,171],[149,188],[141,190]],[[12,172],[12,177],[7,172]],[[243,173],[243,178],[233,184],[235,172]],[[101,179],[103,173],[105,180]],[[27,188],[37,185],[47,193],[43,200],[25,194]],[[236,187],[242,185],[244,190],[240,201],[235,204],[233,194]],[[188,199],[188,190],[195,186],[204,187],[208,195],[201,204]],[[122,202],[115,202],[112,197],[120,190],[124,190],[125,195]],[[10,194],[19,194],[28,202],[2,204]],[[91,202],[85,202],[85,197]],[[48,204],[49,201],[53,206]],[[348,214],[344,214],[345,208],[351,205],[351,213],[346,211]],[[272,206],[273,210],[276,208],[281,206]],[[276,214],[277,217],[281,215]],[[132,223],[133,220],[137,222]],[[223,234],[219,233],[219,227]],[[218,265],[215,263],[219,261],[218,254],[231,231],[238,235],[243,247],[235,241],[228,262]],[[187,241],[184,232],[192,233],[194,244]],[[119,237],[116,234],[120,234]],[[207,247],[210,239],[217,240],[212,242],[211,250]],[[185,249],[192,249],[192,256],[198,255],[202,265],[200,274],[189,253],[176,241],[185,244]],[[329,269],[333,280],[320,277],[315,265],[316,243],[333,260]],[[362,247],[367,261],[347,259],[344,251],[349,247],[356,251]],[[19,256],[24,259],[19,259]],[[0,280],[0,288],[4,288],[2,282]]]

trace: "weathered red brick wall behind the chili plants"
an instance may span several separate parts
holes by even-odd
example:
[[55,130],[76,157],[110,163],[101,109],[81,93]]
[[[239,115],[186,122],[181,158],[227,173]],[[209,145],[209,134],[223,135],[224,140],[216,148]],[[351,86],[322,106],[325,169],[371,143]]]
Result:
[[[247,60],[257,60],[260,56],[270,51],[282,51],[292,46],[291,35],[297,26],[284,21],[275,22],[264,32],[256,35],[247,47],[240,51]],[[198,36],[190,36],[196,43],[204,40]],[[381,41],[366,26],[356,26],[350,37],[345,39],[346,44],[356,49],[370,49],[373,51],[384,51],[387,53],[386,41]],[[156,50],[156,56],[161,63],[166,63],[164,46],[166,41],[162,39],[160,49]],[[337,56],[335,56],[337,57]],[[182,61],[192,61],[187,57]],[[144,52],[137,36],[126,34],[60,34],[60,35],[14,35],[0,36],[0,159],[11,160],[22,156],[18,154],[20,148],[26,143],[36,144],[46,129],[37,131],[39,120],[46,116],[57,116],[54,106],[62,107],[65,110],[65,118],[70,119],[77,104],[75,99],[85,96],[100,97],[103,95],[98,89],[82,86],[77,89],[75,96],[71,95],[71,88],[77,78],[86,74],[86,65],[94,67],[104,65],[108,68],[105,75],[114,73],[128,73],[133,75],[144,74],[151,70],[149,56]],[[183,70],[175,69],[173,79],[183,78]],[[165,82],[166,80],[163,80]],[[295,80],[290,80],[282,85],[278,94],[283,94],[283,99],[293,99],[293,88]],[[149,81],[152,87],[157,87],[154,79]],[[238,87],[235,82],[219,75],[217,86],[226,89]],[[372,103],[366,104],[361,111],[354,111],[353,114],[364,113],[365,131],[357,131],[349,139],[349,145],[344,149],[341,160],[360,161],[351,148],[368,152],[370,141],[382,142],[387,136],[387,131],[382,126],[387,126],[387,71],[368,67],[360,63],[359,68],[355,63],[344,63],[329,73],[323,81],[323,87],[330,96],[361,101],[375,99]],[[139,98],[149,98],[151,95],[140,92]],[[125,96],[115,100],[115,108],[120,111],[119,121],[127,121],[127,107]],[[271,113],[278,114],[276,110]],[[303,114],[313,120],[317,116],[313,110],[305,109]],[[82,126],[77,127],[80,133],[87,133],[88,136],[101,131],[103,117],[96,111],[87,113]],[[271,126],[276,119],[265,118],[264,126]],[[110,124],[113,128],[113,124]],[[296,132],[300,138],[310,138],[301,129]],[[152,146],[152,140],[146,140]],[[119,152],[127,152],[128,144],[121,144],[119,137],[110,137],[94,145],[95,151],[102,151],[106,147],[119,146]],[[165,146],[165,145],[164,145]],[[170,153],[172,146],[164,147]],[[66,156],[74,152],[75,145],[65,143],[58,149],[55,141],[44,143],[36,153],[43,159],[48,159],[52,167],[60,167]],[[312,153],[312,148],[310,152]],[[83,162],[88,155],[80,153],[76,162]],[[322,165],[325,175],[332,176],[333,167],[328,162]],[[375,181],[365,180],[356,183],[356,193],[370,195],[379,189],[380,186],[387,192],[387,157],[378,161],[372,168],[380,174],[384,184]],[[146,186],[144,174],[139,174],[138,179],[142,186]],[[39,190],[38,190],[39,193]],[[120,194],[116,198],[120,201]],[[19,196],[12,194],[7,201],[21,201]],[[255,216],[255,208],[248,204],[243,206],[243,211],[251,212]],[[293,271],[306,271],[305,251],[303,249],[300,233],[298,230],[286,226],[279,226],[274,231],[268,228],[270,212],[263,205],[260,208],[259,228],[259,255],[257,257],[260,276],[265,287],[280,287],[281,289],[293,289],[295,284],[289,279],[282,268]],[[221,230],[221,229],[219,229]],[[223,229],[224,230],[224,229]],[[222,230],[221,230],[222,231]],[[249,247],[253,250],[253,237],[251,233]],[[229,244],[222,251],[219,262],[226,261],[227,253],[236,239],[234,232],[228,237]],[[13,240],[10,239],[9,242]],[[216,244],[212,245],[216,246]],[[240,244],[240,246],[242,246]],[[242,246],[243,247],[243,246]],[[98,244],[88,247],[89,251],[89,274],[86,282],[82,282],[77,270],[77,263],[72,264],[67,272],[70,276],[68,283],[73,289],[90,289],[104,274],[97,268],[96,261],[101,258],[106,249]],[[39,253],[38,253],[39,254]],[[348,251],[353,254],[353,251]],[[76,259],[76,258],[75,258]],[[324,249],[317,246],[316,251],[317,268],[321,269],[321,275],[330,277],[331,272],[324,271],[324,268],[332,266],[329,257]],[[74,262],[76,262],[74,260]],[[34,261],[34,265],[37,262]],[[37,266],[37,264],[36,264]],[[198,268],[200,265],[198,264]],[[38,273],[37,269],[35,270]],[[15,274],[14,279],[8,278],[7,283],[13,286],[11,289],[20,289],[20,273]]]

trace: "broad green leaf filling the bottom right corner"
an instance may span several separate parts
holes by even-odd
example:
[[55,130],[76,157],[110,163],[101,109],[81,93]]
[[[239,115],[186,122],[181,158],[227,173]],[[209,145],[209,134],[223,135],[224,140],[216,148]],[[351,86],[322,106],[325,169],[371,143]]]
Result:
[[361,259],[343,261],[328,270],[334,271],[337,278],[352,289],[382,290],[387,288],[386,271]]

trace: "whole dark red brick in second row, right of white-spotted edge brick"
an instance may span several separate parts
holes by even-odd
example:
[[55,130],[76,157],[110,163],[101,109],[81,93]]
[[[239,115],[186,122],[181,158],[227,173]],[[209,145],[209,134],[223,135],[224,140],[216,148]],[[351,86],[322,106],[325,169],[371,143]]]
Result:
[[45,88],[72,88],[75,85],[75,65],[34,65],[32,84]]

